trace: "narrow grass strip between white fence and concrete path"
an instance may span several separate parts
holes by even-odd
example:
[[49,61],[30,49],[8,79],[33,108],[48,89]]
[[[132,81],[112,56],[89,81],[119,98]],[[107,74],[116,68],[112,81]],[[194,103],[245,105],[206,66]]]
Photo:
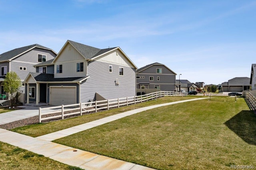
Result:
[[138,103],[136,105],[129,105],[129,106],[125,106],[125,107],[120,107],[118,109],[101,111],[98,113],[93,113],[90,115],[83,115],[83,116],[74,117],[71,119],[64,119],[61,121],[55,121],[55,122],[51,122],[51,123],[40,123],[40,124],[38,123],[38,124],[34,124],[34,125],[18,127],[18,128],[12,129],[12,131],[18,132],[21,134],[26,134],[26,135],[32,136],[32,137],[37,137],[37,136],[42,136],[44,134],[48,134],[51,132],[56,132],[56,131],[59,131],[59,130],[65,129],[65,128],[70,128],[70,127],[74,127],[76,125],[81,125],[83,123],[87,123],[90,121],[95,121],[95,120],[98,120],[98,119],[101,119],[104,117],[108,117],[111,115],[115,115],[118,113],[130,111],[133,109],[138,109],[141,107],[157,105],[157,104],[161,104],[161,103],[168,103],[168,102],[173,102],[173,101],[186,100],[186,99],[194,99],[194,98],[198,98],[198,97],[203,97],[203,96],[194,96],[193,95],[193,96],[187,96],[187,97],[162,97],[162,98],[158,98],[158,99],[155,99],[152,101]]

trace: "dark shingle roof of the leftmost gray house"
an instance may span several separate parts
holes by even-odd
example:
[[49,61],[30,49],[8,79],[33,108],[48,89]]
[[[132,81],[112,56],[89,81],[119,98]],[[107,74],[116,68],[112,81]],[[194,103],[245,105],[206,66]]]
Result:
[[[50,49],[50,48],[44,47],[44,46],[39,45],[39,44],[28,45],[28,46],[25,46],[25,47],[16,48],[16,49],[13,49],[11,51],[7,51],[5,53],[0,54],[0,61],[5,61],[5,60],[8,60],[8,59],[12,59],[13,57],[15,57],[15,56],[17,56],[21,53],[24,53],[25,51],[28,51],[29,49],[31,49],[33,47],[40,47],[40,48]],[[50,49],[50,50],[52,50],[52,49]]]

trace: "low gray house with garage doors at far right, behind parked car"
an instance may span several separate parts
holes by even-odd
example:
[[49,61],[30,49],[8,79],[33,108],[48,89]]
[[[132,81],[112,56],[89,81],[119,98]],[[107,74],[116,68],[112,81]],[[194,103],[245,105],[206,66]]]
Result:
[[242,92],[250,89],[250,78],[235,77],[228,80],[228,82],[223,82],[221,85],[223,92]]

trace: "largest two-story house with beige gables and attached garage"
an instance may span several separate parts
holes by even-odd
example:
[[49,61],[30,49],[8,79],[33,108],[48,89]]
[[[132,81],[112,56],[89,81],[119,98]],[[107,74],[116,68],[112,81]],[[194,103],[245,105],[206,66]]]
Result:
[[137,67],[120,47],[98,49],[68,40],[55,59],[34,66],[37,73],[24,80],[27,103],[68,105],[136,95]]

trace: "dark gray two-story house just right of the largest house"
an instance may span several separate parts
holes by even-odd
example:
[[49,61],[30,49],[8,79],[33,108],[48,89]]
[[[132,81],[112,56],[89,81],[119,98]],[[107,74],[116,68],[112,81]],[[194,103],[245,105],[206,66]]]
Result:
[[136,88],[174,91],[176,75],[166,65],[152,63],[137,70]]

